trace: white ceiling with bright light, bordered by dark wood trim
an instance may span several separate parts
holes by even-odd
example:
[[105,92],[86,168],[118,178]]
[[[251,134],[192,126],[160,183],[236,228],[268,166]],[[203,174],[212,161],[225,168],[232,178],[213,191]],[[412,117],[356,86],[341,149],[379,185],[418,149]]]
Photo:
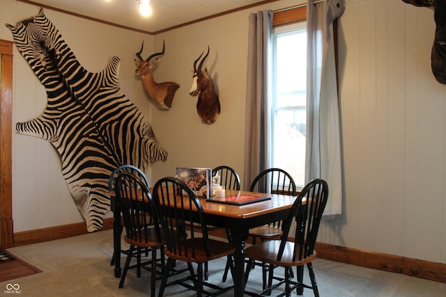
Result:
[[151,0],[152,14],[148,17],[139,13],[137,0],[18,1],[118,24],[145,33],[160,33],[197,19],[277,0]]

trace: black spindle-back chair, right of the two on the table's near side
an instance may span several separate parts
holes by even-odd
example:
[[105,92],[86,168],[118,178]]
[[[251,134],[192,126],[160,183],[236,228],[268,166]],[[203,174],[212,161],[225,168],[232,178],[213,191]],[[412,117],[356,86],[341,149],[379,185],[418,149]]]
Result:
[[[197,195],[174,177],[157,181],[153,195],[160,209],[160,221],[166,238],[164,255],[168,257],[158,296],[164,294],[165,287],[174,284],[197,291],[197,296],[217,296],[231,290],[233,286],[223,288],[203,280],[203,264],[233,254],[235,247],[231,243],[209,238],[203,207]],[[169,269],[174,261],[186,262],[190,275],[168,283]],[[197,263],[197,272],[192,263]],[[213,292],[210,293],[205,287],[213,289]]]

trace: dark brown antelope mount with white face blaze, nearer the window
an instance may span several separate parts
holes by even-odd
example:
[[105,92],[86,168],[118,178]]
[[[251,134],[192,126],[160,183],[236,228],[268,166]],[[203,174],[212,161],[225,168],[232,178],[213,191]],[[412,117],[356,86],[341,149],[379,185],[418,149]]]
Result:
[[208,52],[201,59],[198,68],[197,62],[203,56],[203,53],[194,61],[194,76],[192,77],[192,87],[190,88],[190,95],[197,96],[197,113],[201,121],[206,124],[212,124],[217,120],[220,115],[220,100],[218,99],[217,93],[215,93],[215,86],[213,79],[208,74],[208,69],[204,67],[204,70],[201,70],[203,66],[203,62],[209,55],[209,46]]

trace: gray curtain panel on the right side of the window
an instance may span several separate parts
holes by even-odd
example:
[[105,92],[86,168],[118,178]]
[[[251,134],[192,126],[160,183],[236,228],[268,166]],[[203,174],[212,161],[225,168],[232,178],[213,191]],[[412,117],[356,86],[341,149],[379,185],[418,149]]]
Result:
[[344,0],[307,0],[305,182],[316,177],[328,182],[330,199],[325,218],[340,216],[342,209],[341,137],[332,23],[344,10]]

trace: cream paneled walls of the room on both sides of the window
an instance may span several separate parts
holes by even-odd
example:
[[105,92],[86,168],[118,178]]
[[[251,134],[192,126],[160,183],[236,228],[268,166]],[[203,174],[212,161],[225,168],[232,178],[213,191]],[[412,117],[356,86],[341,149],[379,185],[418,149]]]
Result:
[[[155,181],[174,175],[176,166],[227,164],[243,175],[247,16],[295,3],[277,1],[153,38],[45,13],[90,70],[101,70],[109,56],[122,58],[121,86],[147,114],[169,152],[167,162],[155,162],[148,172]],[[38,8],[13,0],[0,0],[0,6],[3,22],[38,13]],[[318,241],[446,263],[446,92],[430,69],[434,30],[433,12],[426,8],[395,0],[347,0],[339,51],[344,217],[324,222]],[[1,26],[0,38],[12,40]],[[166,42],[154,75],[157,81],[180,84],[170,111],[148,102],[134,79],[134,52],[143,38],[144,55],[152,39],[154,51],[162,39]],[[188,95],[192,63],[208,45],[206,64],[222,104],[213,125],[201,124],[197,99]],[[17,122],[40,115],[46,97],[17,51],[14,63]],[[13,136],[15,232],[82,221],[52,147],[30,136]]]

